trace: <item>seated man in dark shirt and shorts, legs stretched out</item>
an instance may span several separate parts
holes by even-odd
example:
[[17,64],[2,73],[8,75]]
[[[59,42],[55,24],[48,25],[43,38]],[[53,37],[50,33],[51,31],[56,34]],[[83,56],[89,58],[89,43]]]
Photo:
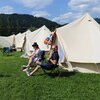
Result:
[[58,60],[59,60],[58,46],[53,45],[52,50],[53,50],[53,53],[52,53],[51,58],[48,60],[48,62],[41,63],[41,62],[37,61],[36,62],[37,63],[36,68],[31,73],[28,73],[27,74],[28,76],[33,75],[39,68],[51,70],[51,69],[57,67],[57,63],[58,63]]

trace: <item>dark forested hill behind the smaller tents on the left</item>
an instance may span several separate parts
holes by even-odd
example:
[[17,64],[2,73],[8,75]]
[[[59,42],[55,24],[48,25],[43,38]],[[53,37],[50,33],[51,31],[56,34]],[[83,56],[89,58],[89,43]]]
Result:
[[25,32],[27,29],[34,30],[43,25],[46,25],[50,30],[61,26],[48,19],[27,14],[0,14],[0,35],[3,36]]

